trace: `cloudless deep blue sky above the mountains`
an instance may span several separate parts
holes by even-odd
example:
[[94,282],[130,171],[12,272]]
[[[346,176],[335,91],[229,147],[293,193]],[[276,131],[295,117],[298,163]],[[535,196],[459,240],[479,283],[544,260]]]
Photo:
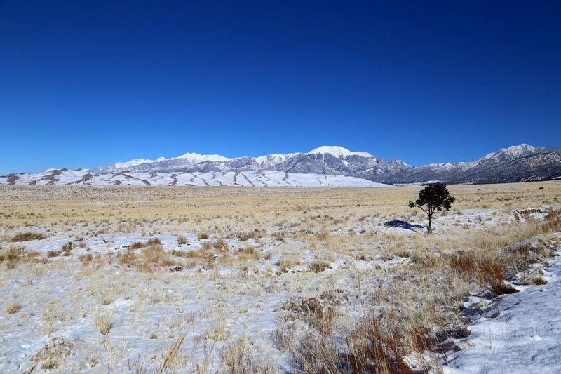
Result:
[[561,146],[561,1],[0,0],[0,173]]

